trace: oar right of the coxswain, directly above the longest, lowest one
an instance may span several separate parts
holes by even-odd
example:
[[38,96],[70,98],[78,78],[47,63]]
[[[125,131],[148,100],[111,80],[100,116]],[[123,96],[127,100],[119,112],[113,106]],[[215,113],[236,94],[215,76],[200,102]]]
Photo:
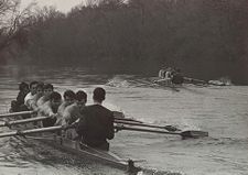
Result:
[[121,120],[115,120],[115,123],[122,123],[122,124],[129,124],[129,125],[140,125],[140,127],[149,127],[149,128],[157,128],[157,129],[164,129],[168,131],[180,131],[177,128],[173,125],[154,125],[154,124],[148,124],[148,123],[138,123],[138,122],[131,122],[131,121],[121,121]]

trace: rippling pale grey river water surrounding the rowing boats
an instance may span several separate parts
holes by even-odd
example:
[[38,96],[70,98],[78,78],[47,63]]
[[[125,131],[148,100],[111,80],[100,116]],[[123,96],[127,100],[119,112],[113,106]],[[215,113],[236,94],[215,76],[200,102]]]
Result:
[[[182,130],[202,130],[208,138],[182,140],[176,135],[119,131],[110,150],[157,174],[247,175],[248,174],[248,87],[200,87],[186,85],[173,90],[158,87],[140,75],[96,75],[80,68],[41,69],[0,67],[0,113],[17,97],[18,83],[52,83],[55,90],[95,87],[107,90],[105,106],[149,123],[173,124]],[[8,129],[0,129],[1,132]],[[0,174],[79,175],[125,174],[94,164],[47,145],[25,143],[15,138],[0,139]]]

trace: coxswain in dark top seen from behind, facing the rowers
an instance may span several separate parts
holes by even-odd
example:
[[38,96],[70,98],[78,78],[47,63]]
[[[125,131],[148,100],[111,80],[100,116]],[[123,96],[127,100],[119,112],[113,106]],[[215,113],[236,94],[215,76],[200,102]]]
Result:
[[94,90],[94,105],[87,106],[82,110],[82,117],[76,127],[83,143],[100,149],[109,150],[108,140],[114,139],[114,113],[101,106],[105,100],[106,91],[103,88]]

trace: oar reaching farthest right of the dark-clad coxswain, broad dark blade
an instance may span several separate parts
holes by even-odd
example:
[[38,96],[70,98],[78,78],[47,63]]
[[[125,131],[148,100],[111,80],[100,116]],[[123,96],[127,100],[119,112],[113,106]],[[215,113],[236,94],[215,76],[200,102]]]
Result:
[[204,131],[169,132],[169,131],[149,130],[149,129],[125,127],[125,125],[121,125],[121,127],[120,125],[116,125],[115,129],[117,129],[117,130],[128,130],[128,131],[140,131],[140,132],[152,132],[152,133],[181,135],[183,139],[186,139],[186,138],[197,139],[197,138],[208,136],[208,132],[204,132]]

